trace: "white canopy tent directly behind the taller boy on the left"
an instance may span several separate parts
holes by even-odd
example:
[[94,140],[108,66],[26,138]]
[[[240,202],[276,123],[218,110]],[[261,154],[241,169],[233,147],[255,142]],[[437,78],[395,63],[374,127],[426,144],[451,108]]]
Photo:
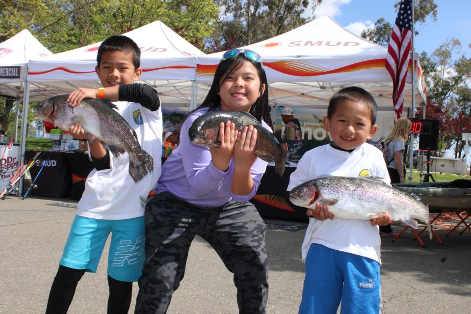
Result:
[[[160,21],[123,35],[130,37],[141,49],[141,80],[157,88],[162,103],[190,106],[196,57],[204,53]],[[27,86],[37,91],[36,99],[65,94],[79,87],[101,87],[95,72],[100,44],[94,43],[49,57],[31,58],[26,81]],[[27,110],[26,106],[24,109]],[[22,138],[26,137],[26,133],[22,135]],[[21,158],[24,156],[25,143],[22,143]]]

